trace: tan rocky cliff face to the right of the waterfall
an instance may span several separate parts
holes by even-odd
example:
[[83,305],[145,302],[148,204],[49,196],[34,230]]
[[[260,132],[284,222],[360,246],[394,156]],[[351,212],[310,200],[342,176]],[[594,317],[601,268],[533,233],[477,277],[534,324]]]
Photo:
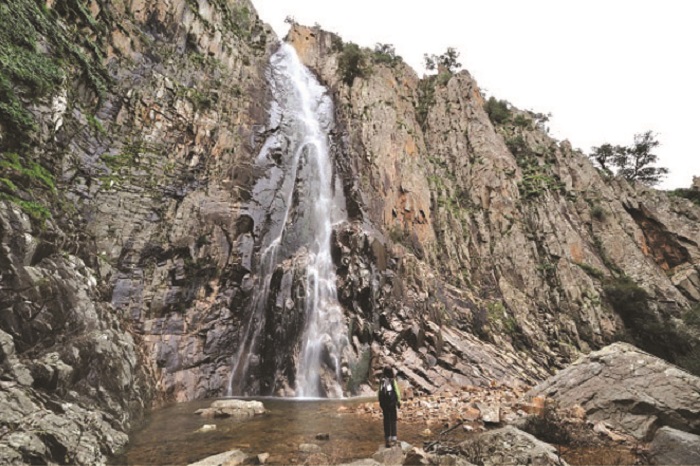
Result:
[[[529,367],[557,368],[625,331],[643,340],[615,300],[631,277],[647,293],[648,321],[683,327],[698,291],[692,202],[604,179],[568,142],[547,136],[533,112],[510,109],[493,123],[467,72],[419,79],[400,60],[388,65],[365,51],[348,80],[340,38],[294,26],[288,40],[338,102],[349,154],[341,173],[356,180],[347,196],[361,206],[355,219],[402,249],[391,272],[408,299],[385,303],[388,315],[425,308],[403,322],[432,311],[438,328],[528,355]],[[697,335],[690,342],[645,344],[681,360]]]

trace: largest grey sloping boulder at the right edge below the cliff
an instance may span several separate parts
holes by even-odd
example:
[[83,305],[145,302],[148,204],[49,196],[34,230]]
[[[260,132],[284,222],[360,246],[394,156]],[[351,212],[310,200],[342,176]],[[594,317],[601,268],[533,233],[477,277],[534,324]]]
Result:
[[661,426],[700,434],[700,378],[626,343],[580,358],[529,395],[580,405],[589,419],[640,440]]

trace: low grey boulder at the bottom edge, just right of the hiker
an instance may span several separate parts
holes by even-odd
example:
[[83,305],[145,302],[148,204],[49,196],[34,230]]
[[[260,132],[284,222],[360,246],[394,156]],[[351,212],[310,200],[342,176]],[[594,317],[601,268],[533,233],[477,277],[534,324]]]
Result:
[[556,449],[513,426],[491,430],[459,444],[462,454],[474,464],[566,466]]

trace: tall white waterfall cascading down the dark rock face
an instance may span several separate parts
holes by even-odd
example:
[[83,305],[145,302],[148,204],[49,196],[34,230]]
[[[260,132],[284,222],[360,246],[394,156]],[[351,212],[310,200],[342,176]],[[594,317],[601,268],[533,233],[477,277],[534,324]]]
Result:
[[303,313],[304,324],[296,335],[294,383],[289,388],[298,397],[342,397],[341,355],[348,337],[337,300],[331,235],[346,213],[329,153],[333,101],[288,44],[270,58],[267,81],[272,93],[268,137],[255,161],[263,175],[242,206],[242,215],[254,224],[254,295],[250,317],[241,327],[228,392],[251,394],[246,387],[260,364],[261,348],[275,345],[266,341],[269,335],[262,335],[274,298],[270,294],[275,271],[303,257],[305,293],[294,306]]

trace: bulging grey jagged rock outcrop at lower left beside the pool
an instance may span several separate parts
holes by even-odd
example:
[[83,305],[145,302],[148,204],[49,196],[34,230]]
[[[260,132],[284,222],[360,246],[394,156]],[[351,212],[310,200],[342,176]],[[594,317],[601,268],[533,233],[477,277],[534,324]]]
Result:
[[95,271],[46,228],[0,203],[0,451],[6,464],[101,464],[127,444],[151,387]]

